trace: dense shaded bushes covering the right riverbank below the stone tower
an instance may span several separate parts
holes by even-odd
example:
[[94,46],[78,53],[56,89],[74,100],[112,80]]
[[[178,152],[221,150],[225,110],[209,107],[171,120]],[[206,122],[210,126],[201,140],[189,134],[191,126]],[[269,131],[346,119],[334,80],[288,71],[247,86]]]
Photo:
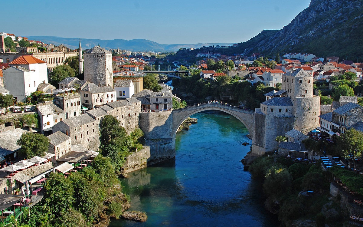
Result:
[[[330,178],[320,165],[294,163],[291,159],[270,155],[255,159],[249,171],[254,179],[262,181],[265,207],[278,214],[282,224],[288,225],[295,219],[314,219],[328,202]],[[321,194],[314,197],[299,196],[303,190]]]

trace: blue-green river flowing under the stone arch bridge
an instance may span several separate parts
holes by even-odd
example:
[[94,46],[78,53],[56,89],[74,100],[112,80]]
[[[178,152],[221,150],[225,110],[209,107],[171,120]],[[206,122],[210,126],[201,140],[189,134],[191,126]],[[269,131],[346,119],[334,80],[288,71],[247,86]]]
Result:
[[246,127],[219,111],[191,117],[198,123],[176,135],[176,157],[122,179],[130,210],[144,223],[113,220],[110,226],[279,226],[263,207],[260,186],[240,160],[251,143]]

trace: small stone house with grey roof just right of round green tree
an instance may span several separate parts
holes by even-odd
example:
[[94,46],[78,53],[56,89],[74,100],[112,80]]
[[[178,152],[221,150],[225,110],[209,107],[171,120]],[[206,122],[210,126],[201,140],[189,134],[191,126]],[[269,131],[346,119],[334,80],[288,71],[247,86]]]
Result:
[[54,166],[57,166],[57,159],[71,151],[71,139],[61,131],[56,131],[52,135],[48,135],[47,138],[49,139],[48,153],[55,154],[51,160],[54,163]]

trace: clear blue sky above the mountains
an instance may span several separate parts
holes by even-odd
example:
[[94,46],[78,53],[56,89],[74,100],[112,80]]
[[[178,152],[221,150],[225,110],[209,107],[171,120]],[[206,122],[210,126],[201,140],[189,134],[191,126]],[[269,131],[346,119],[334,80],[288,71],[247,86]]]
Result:
[[[310,0],[2,1],[0,32],[160,44],[242,42],[281,29]],[[5,20],[6,19],[6,20]]]

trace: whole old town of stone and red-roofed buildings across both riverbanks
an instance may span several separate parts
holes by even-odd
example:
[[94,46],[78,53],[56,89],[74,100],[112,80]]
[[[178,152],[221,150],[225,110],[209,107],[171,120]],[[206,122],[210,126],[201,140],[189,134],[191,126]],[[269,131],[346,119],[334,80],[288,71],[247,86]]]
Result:
[[[15,47],[7,48],[5,38],[11,38]],[[20,46],[21,41],[32,46]],[[209,101],[209,97],[203,97],[203,102],[189,107],[202,111],[207,105],[207,109],[217,106],[217,110],[228,106],[253,115],[250,122],[253,125],[250,131],[252,146],[244,161],[252,170],[254,164],[249,159],[276,155],[289,162],[307,165],[321,162],[323,171],[335,166],[363,174],[362,151],[346,151],[346,155],[339,157],[328,150],[334,150],[332,147],[345,138],[346,133],[353,130],[363,133],[362,94],[348,86],[354,83],[355,88],[362,82],[362,63],[310,53],[286,53],[282,57],[277,54],[272,58],[262,53],[226,56],[203,52],[195,56],[193,64],[156,55],[106,50],[101,46],[82,50],[81,41],[78,49],[71,50],[65,45],[47,45],[0,33],[0,195],[3,196],[0,198],[9,199],[1,205],[3,222],[10,223],[9,217],[19,217],[25,207],[41,201],[50,173],[59,173],[66,179],[93,165],[97,157],[106,157],[107,153],[111,160],[118,157],[118,154],[112,156],[112,149],[106,150],[102,144],[105,131],[113,130],[111,126],[107,130],[102,128],[105,119],[116,122],[114,127],[122,127],[125,137],[133,137],[139,129],[144,133],[144,137],[129,141],[132,152],[127,153],[129,156],[122,160],[121,166],[117,166],[119,175],[175,157],[174,119],[170,116],[175,105],[180,106],[181,98],[185,97],[177,97],[164,83],[158,84],[160,89],[157,91],[145,88],[148,73],[153,71],[163,74],[166,70],[164,74],[176,77],[176,80],[195,76],[200,83],[209,85],[233,79],[236,84],[248,83],[249,88],[260,86],[262,91],[268,90],[262,93],[264,101],[258,102],[258,108],[253,110],[246,108],[244,101],[229,104],[230,100],[216,98]],[[72,64],[78,75],[52,77],[59,66],[70,67]],[[164,65],[162,69],[160,65]],[[186,75],[171,75],[173,72],[186,72]],[[343,87],[345,93],[338,89]],[[26,120],[30,118],[26,116],[34,114],[37,114],[36,120]],[[22,138],[34,134],[46,137],[48,149],[41,156],[23,157]],[[138,147],[139,141],[136,141],[140,138],[144,141]],[[307,143],[307,140],[313,142]],[[150,145],[150,141],[156,141],[156,145]],[[126,142],[123,141],[123,145]],[[162,153],[169,149],[168,146],[174,146],[170,149],[174,149],[174,155],[151,159],[152,155],[147,153],[155,147]],[[320,149],[317,151],[314,146],[320,146]],[[342,203],[349,207],[351,217],[358,218],[363,214],[361,194],[338,175],[330,186],[330,194],[351,194]],[[312,196],[314,191],[303,193]]]

